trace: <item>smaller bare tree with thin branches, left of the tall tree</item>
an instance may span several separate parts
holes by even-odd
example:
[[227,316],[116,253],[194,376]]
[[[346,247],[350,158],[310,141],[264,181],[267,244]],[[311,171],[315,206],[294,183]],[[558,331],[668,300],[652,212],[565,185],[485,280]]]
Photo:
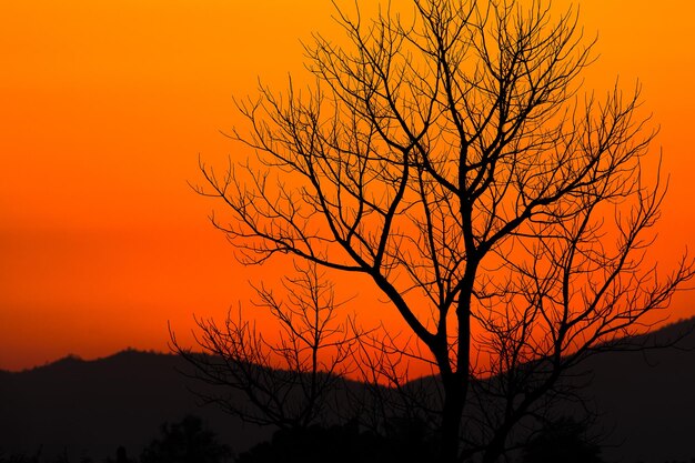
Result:
[[170,330],[172,350],[193,366],[188,375],[223,386],[198,389],[205,403],[245,422],[280,429],[328,419],[330,401],[338,399],[351,368],[356,336],[338,319],[342,303],[315,264],[294,270],[296,276],[283,279],[284,299],[265,285],[255,288],[256,306],[278,321],[276,336],[268,326],[263,335],[241,309],[238,316],[228,314],[223,324],[197,319],[195,344],[202,352],[183,346]]

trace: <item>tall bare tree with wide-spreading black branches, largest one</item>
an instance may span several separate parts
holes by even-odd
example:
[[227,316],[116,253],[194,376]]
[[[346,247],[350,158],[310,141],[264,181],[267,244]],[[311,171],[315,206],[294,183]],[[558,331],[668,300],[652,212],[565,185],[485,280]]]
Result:
[[657,272],[645,255],[666,188],[643,174],[639,89],[580,95],[594,42],[541,1],[336,21],[348,47],[306,47],[314,85],[239,102],[249,128],[230,137],[255,154],[201,163],[200,192],[225,203],[213,222],[242,262],[369,276],[412,332],[394,352],[439,374],[441,461],[496,461],[573,366],[693,276],[686,256]]

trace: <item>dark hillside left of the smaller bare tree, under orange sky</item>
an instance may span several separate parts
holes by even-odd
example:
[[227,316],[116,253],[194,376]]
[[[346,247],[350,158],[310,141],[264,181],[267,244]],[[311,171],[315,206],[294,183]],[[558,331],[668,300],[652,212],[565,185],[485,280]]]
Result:
[[214,406],[199,407],[177,371],[178,356],[124,351],[97,361],[74,358],[0,375],[0,449],[101,460],[119,445],[139,455],[164,422],[193,413],[235,451],[268,435]]

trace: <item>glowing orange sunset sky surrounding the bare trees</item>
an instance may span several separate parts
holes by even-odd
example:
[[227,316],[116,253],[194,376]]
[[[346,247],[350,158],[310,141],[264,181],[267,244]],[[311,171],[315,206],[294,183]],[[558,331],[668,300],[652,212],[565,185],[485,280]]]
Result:
[[[581,11],[600,36],[587,90],[639,78],[662,127],[671,191],[654,251],[673,262],[695,249],[695,3]],[[300,39],[330,31],[330,14],[326,0],[0,2],[0,369],[165,350],[168,320],[222,316],[248,279],[278,273],[234,262],[187,181],[199,153],[235,149],[220,134],[231,97],[301,76]],[[695,314],[695,294],[673,310]]]

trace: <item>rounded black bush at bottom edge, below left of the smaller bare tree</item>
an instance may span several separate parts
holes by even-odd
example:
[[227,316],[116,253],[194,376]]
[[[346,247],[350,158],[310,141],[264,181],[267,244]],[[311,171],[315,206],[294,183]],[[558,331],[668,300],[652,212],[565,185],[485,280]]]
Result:
[[231,460],[229,446],[203,427],[200,417],[188,415],[180,423],[164,423],[161,440],[153,440],[142,452],[141,463],[221,463]]

